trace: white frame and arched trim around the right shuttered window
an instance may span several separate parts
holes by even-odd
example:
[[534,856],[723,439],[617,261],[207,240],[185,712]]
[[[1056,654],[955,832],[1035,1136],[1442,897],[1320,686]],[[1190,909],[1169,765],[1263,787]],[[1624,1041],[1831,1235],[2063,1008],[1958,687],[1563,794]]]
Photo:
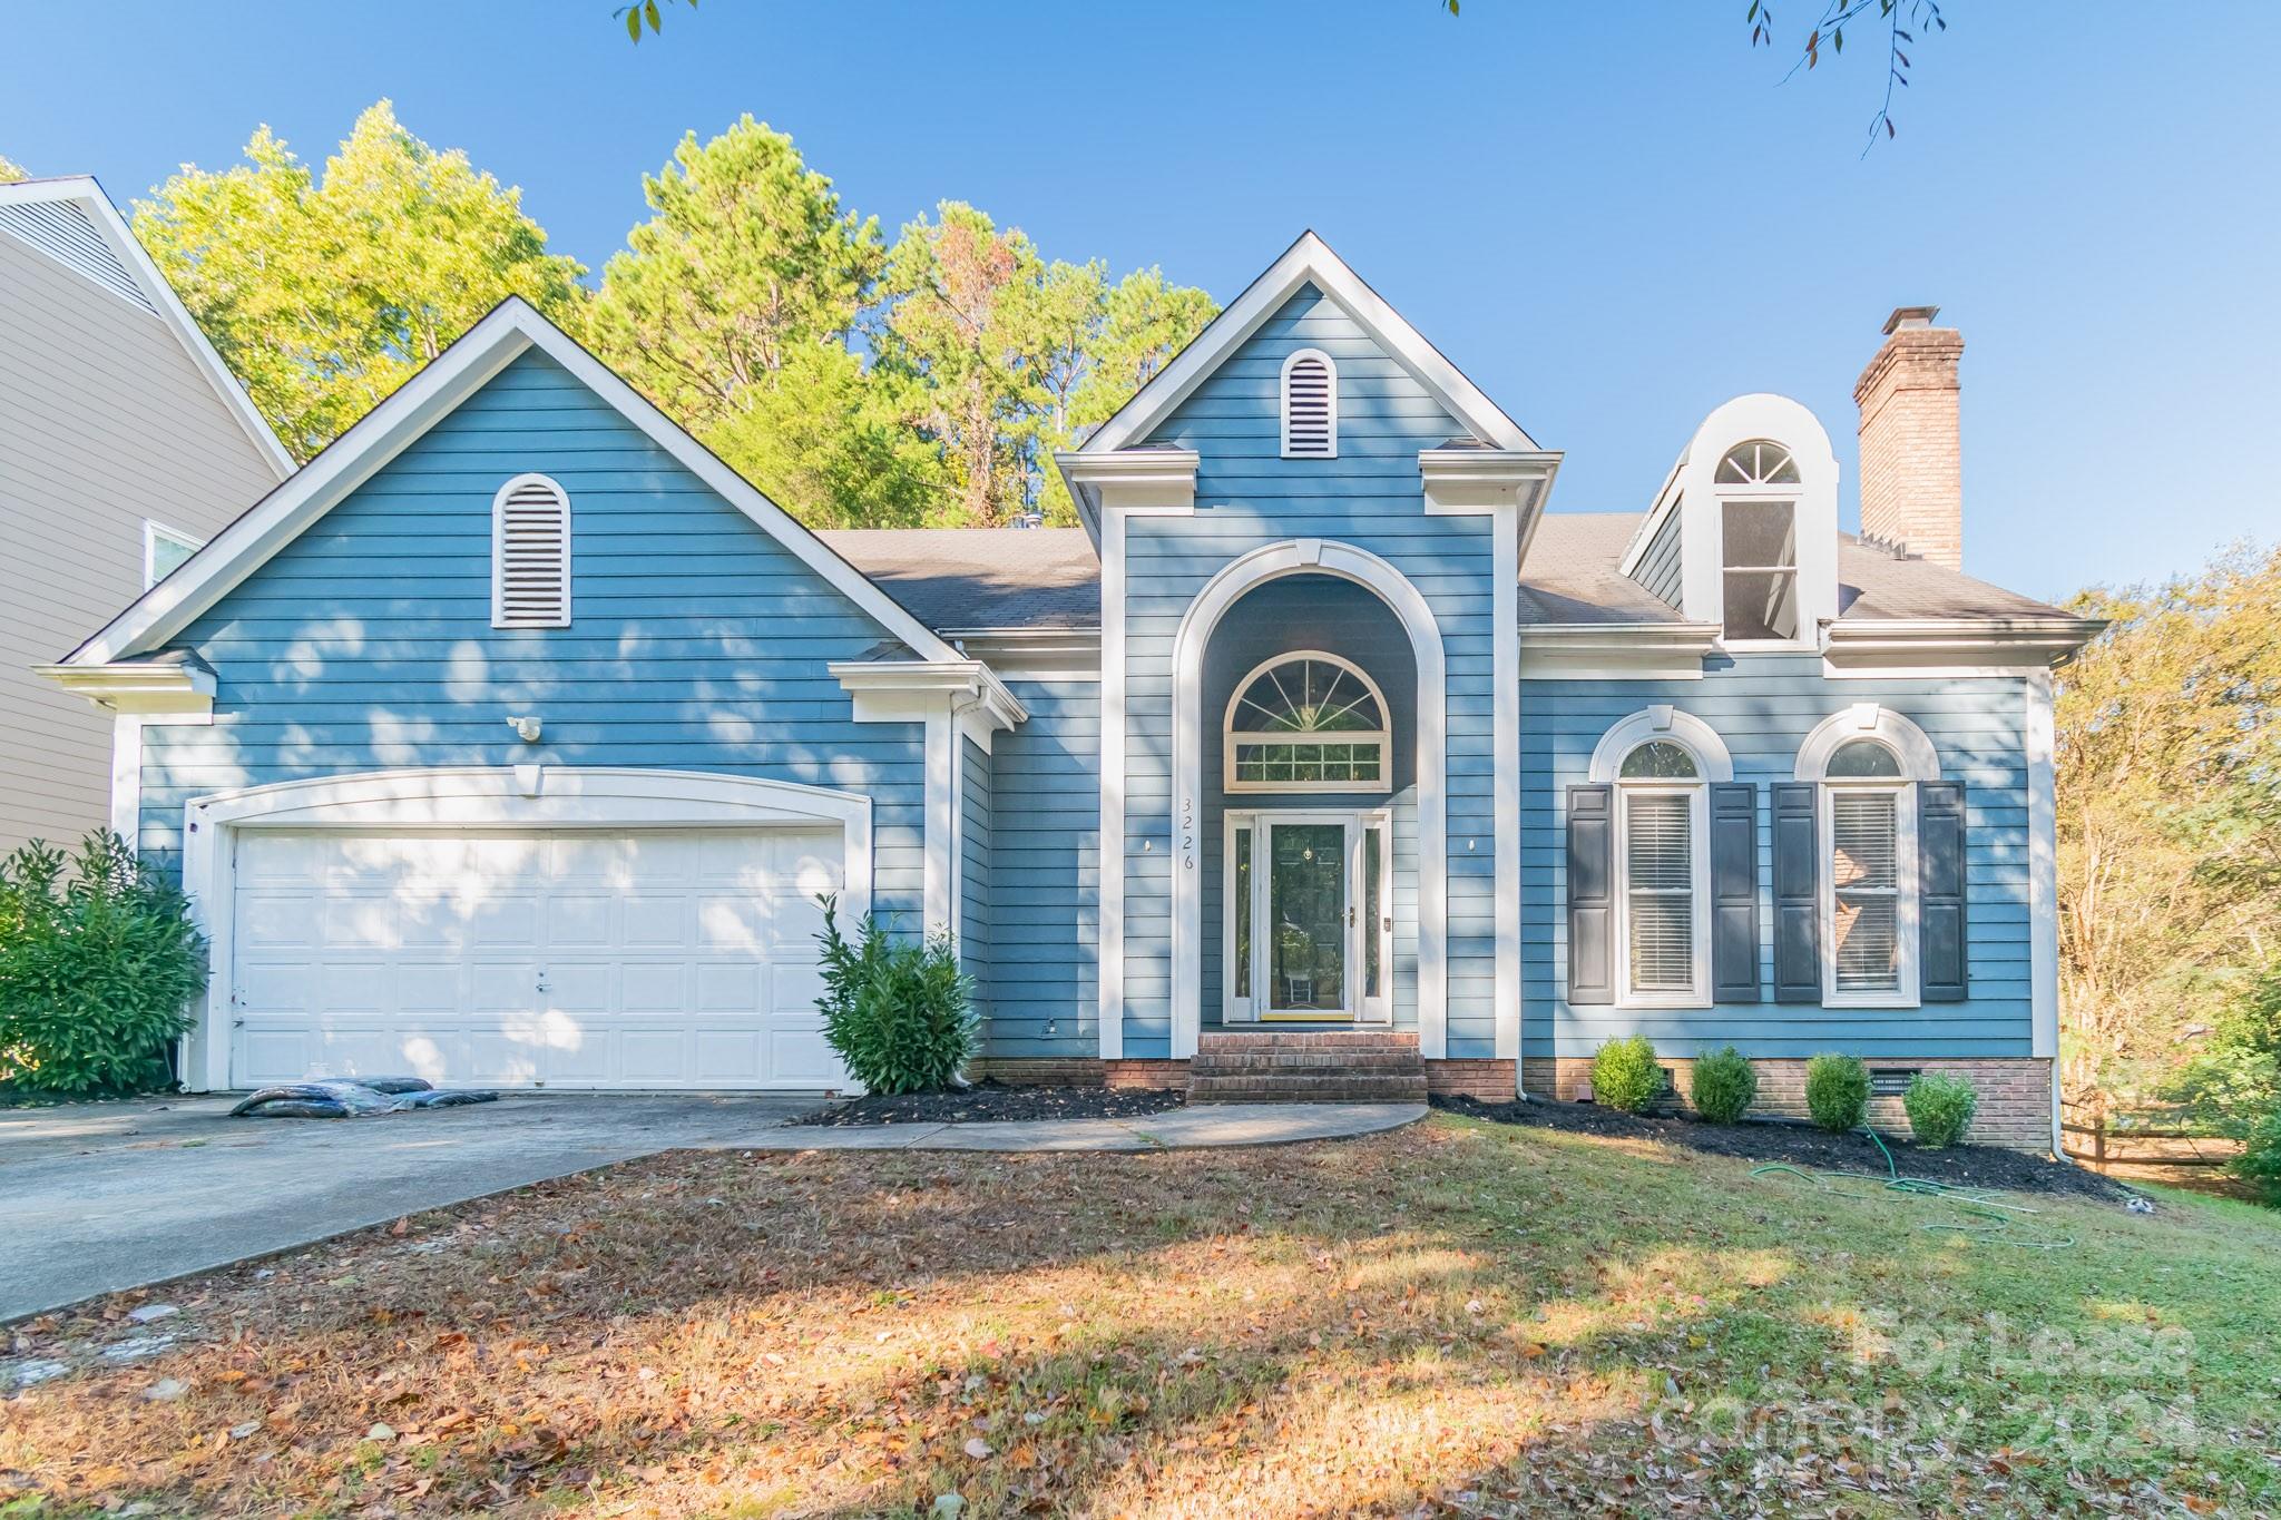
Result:
[[[1857,738],[1870,738],[1893,752],[1900,775],[1845,777],[1829,775],[1829,761]],[[1923,839],[1918,834],[1918,784],[1941,779],[1941,757],[1909,718],[1893,709],[1864,702],[1832,713],[1813,725],[1797,745],[1795,779],[1813,782],[1813,896],[1816,937],[1820,939],[1823,1007],[1923,1007]],[[1893,793],[1893,964],[1896,989],[1838,991],[1836,932],[1836,807],[1841,791]]]

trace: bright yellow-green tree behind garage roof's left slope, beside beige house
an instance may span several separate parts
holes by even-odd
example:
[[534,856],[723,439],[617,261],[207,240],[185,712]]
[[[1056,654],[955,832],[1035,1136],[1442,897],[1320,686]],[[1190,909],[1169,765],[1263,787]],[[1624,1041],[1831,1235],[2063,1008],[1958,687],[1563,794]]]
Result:
[[582,317],[584,269],[547,253],[522,191],[413,137],[388,100],[322,180],[262,128],[244,164],[185,164],[137,201],[135,232],[299,460],[509,294]]

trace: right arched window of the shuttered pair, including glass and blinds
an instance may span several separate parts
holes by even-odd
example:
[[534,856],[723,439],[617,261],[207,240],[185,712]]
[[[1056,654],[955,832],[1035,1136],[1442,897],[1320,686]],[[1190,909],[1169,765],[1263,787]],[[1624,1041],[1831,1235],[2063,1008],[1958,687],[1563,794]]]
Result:
[[[1797,779],[1816,784],[1823,1000],[1845,1007],[1914,1007],[1921,996],[1925,900],[1957,898],[1962,880],[1930,882],[1923,791],[1941,779],[1932,741],[1896,711],[1864,704],[1825,718],[1797,750]],[[1943,788],[1957,791],[1957,788]],[[1955,855],[1962,875],[1962,798]],[[1962,927],[1959,927],[1962,932]],[[1962,980],[1962,943],[1957,978]]]

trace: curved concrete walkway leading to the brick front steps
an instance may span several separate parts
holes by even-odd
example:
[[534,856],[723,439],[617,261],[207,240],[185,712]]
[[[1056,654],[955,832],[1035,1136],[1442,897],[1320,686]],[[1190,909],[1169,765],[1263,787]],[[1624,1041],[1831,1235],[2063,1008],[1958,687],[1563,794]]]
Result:
[[1024,1119],[1004,1123],[796,1123],[703,1149],[734,1151],[1209,1151],[1296,1146],[1398,1130],[1423,1103],[1204,1103],[1138,1119]]

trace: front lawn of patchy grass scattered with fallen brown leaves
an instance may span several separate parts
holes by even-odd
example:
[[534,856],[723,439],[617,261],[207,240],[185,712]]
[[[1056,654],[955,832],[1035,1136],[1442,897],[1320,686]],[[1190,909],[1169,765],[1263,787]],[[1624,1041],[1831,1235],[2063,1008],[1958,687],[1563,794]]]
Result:
[[2281,1509],[2276,1219],[2021,1201],[2073,1244],[1453,1114],[668,1155],[18,1326],[0,1515]]

